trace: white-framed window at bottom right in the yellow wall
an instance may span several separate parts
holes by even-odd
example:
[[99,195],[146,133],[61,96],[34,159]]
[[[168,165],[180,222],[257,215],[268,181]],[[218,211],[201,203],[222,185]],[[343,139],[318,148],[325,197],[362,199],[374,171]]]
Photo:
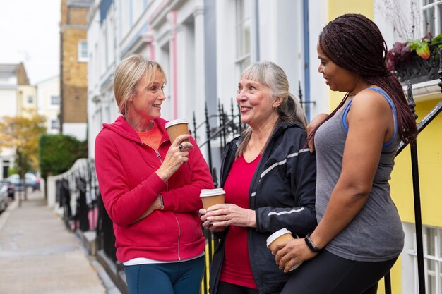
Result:
[[[442,228],[423,226],[422,234],[426,293],[442,294]],[[416,240],[415,237],[414,240]],[[414,281],[417,281],[417,250],[414,248],[408,253],[414,257]],[[418,293],[417,287],[416,283],[414,293]]]

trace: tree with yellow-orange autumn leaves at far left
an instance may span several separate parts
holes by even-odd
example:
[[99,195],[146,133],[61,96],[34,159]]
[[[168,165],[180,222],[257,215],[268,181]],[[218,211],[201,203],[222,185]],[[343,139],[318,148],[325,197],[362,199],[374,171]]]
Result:
[[0,149],[15,149],[15,165],[25,190],[25,173],[38,170],[38,140],[46,132],[44,116],[4,116],[0,118]]

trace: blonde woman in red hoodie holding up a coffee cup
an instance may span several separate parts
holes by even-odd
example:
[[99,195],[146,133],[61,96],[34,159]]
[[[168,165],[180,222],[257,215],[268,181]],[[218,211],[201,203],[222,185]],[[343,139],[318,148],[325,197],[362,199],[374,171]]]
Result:
[[165,83],[155,61],[121,61],[114,75],[121,116],[95,141],[100,192],[131,294],[196,294],[204,271],[199,194],[213,180],[190,135],[169,141],[160,118]]

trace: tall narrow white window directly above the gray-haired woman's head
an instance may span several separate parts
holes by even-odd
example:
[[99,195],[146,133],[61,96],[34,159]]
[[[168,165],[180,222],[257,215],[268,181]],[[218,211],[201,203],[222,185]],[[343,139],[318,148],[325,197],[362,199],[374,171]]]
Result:
[[237,0],[237,64],[240,72],[251,63],[251,8],[251,0]]

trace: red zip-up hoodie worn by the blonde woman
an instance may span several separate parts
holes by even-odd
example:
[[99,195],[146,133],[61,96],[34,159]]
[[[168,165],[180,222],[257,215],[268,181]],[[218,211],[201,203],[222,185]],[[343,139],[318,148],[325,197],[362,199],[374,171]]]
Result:
[[[213,188],[208,165],[195,140],[189,161],[165,183],[155,171],[170,147],[166,121],[155,119],[162,131],[158,152],[141,142],[122,116],[103,124],[95,140],[95,169],[104,207],[114,222],[117,259],[136,257],[172,261],[201,255],[204,238],[198,209],[201,189]],[[135,221],[161,193],[164,208]]]

